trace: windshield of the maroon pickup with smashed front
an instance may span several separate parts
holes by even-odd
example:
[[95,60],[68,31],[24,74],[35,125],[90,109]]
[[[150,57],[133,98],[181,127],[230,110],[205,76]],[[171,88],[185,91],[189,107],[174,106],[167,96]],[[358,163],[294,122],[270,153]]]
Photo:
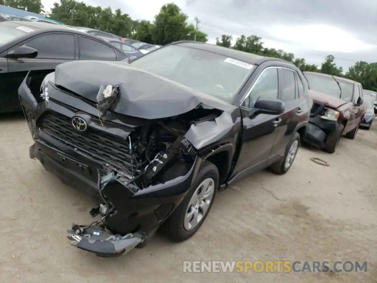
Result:
[[304,73],[309,82],[309,88],[313,91],[322,92],[340,98],[340,88],[333,77]]

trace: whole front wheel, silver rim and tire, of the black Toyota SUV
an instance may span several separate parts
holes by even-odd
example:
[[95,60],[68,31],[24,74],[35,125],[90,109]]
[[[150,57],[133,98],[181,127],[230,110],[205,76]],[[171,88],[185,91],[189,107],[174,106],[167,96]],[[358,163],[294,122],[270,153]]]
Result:
[[198,231],[212,207],[218,186],[217,167],[204,161],[186,196],[167,220],[170,240],[181,242]]

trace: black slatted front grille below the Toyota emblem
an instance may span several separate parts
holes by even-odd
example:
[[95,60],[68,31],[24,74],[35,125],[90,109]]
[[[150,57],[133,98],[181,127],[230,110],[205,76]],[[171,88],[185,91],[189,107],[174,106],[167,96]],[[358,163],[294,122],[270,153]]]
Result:
[[95,160],[107,162],[118,170],[135,170],[128,145],[120,137],[91,128],[86,132],[76,131],[69,117],[56,112],[44,115],[39,123],[46,134],[77,148]]

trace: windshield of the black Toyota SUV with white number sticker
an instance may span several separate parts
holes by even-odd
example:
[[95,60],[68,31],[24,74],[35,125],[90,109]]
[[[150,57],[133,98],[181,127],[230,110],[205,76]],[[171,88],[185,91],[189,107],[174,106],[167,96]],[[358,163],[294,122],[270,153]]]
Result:
[[132,66],[196,91],[233,102],[254,65],[213,52],[169,45],[132,62]]

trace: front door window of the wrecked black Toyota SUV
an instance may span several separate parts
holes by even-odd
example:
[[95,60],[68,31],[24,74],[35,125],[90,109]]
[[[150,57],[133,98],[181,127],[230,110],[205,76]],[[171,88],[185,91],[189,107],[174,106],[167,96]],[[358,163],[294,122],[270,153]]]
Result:
[[253,108],[258,97],[262,95],[277,98],[277,82],[277,68],[264,70],[254,83],[253,89],[245,99],[244,103],[242,103],[242,106]]

